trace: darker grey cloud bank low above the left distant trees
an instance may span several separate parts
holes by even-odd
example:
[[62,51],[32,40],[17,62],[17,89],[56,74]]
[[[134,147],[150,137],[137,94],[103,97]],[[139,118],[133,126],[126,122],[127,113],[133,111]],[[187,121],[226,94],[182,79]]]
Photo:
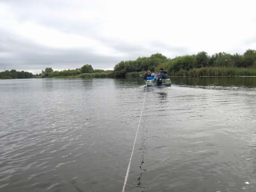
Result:
[[1,58],[1,69],[5,67],[41,71],[46,67],[79,68],[87,63],[93,68],[108,69],[113,68],[120,61],[118,57],[97,55],[89,49],[54,49],[10,35],[4,30],[0,30],[0,34],[0,53],[10,55]]

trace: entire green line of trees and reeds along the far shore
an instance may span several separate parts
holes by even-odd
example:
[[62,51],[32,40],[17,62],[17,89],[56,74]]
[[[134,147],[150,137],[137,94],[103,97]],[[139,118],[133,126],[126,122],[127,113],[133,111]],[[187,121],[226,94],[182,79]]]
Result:
[[[150,57],[139,57],[136,60],[121,61],[115,65],[113,71],[93,69],[92,65],[89,64],[81,68],[60,71],[45,68],[40,74],[36,75],[12,69],[0,72],[0,79],[125,77],[147,70],[157,72],[159,68],[164,68],[169,76],[256,76],[256,50],[247,49],[244,54],[219,52],[211,56],[207,52],[202,51],[192,55],[176,56],[172,59],[167,58],[161,53],[156,53]],[[131,72],[134,74],[131,74]]]

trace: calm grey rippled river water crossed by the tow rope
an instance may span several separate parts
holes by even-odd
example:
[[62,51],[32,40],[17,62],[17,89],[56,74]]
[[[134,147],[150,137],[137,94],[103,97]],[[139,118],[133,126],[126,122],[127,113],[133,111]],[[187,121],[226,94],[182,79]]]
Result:
[[[122,191],[141,79],[0,81],[0,191]],[[125,191],[255,191],[256,77],[149,88]]]

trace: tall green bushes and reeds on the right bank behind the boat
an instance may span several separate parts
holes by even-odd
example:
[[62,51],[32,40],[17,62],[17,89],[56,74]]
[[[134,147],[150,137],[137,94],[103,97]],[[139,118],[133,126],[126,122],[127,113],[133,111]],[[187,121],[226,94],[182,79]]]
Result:
[[[164,68],[169,76],[250,76],[256,75],[256,50],[244,54],[198,52],[169,59],[161,53],[137,60],[121,61],[114,67],[114,76],[123,77],[129,72],[154,71]],[[131,76],[131,74],[129,74]]]

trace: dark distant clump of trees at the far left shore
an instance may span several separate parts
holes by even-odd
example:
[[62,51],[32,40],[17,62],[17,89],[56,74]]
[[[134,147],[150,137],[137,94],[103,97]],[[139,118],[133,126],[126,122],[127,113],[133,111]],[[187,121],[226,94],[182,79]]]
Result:
[[0,72],[0,79],[28,79],[33,77],[32,73],[27,71],[16,71],[15,69]]

